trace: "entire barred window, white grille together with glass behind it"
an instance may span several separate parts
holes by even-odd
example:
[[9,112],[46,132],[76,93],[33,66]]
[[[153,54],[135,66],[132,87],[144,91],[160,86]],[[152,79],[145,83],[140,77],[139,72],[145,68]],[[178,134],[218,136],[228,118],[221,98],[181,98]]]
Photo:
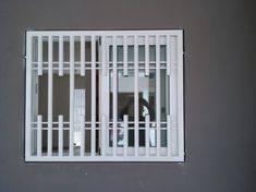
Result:
[[183,161],[183,32],[26,33],[26,161]]

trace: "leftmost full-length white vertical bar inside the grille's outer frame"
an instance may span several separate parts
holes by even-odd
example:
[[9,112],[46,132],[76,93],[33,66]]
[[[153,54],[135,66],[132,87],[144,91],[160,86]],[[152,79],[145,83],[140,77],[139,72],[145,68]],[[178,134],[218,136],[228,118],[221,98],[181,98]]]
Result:
[[53,92],[53,71],[52,71],[52,36],[48,37],[48,156],[52,154],[52,92]]

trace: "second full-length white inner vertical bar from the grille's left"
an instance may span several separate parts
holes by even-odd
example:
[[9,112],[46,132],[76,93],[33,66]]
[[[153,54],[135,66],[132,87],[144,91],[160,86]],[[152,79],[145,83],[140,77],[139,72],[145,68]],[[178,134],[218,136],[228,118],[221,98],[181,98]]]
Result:
[[74,155],[74,36],[70,36],[70,156]]

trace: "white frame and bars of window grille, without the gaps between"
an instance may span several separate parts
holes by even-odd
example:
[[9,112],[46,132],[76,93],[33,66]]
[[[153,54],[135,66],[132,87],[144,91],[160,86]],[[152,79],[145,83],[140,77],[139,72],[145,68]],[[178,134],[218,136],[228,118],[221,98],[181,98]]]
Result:
[[[70,129],[69,131],[73,133],[74,129],[74,37],[78,36],[82,41],[84,41],[86,36],[89,36],[92,43],[95,43],[96,38],[100,38],[100,50],[99,50],[99,63],[98,70],[100,74],[100,110],[99,110],[99,127],[101,130],[100,134],[100,145],[101,153],[96,154],[95,152],[95,130],[96,130],[96,119],[92,116],[92,151],[89,155],[85,155],[84,147],[81,146],[81,154],[78,156],[74,155],[74,147],[72,143],[74,137],[70,135],[70,151],[69,155],[63,155],[63,148],[59,149],[58,155],[52,154],[52,73],[53,73],[53,61],[52,61],[52,38],[59,38],[59,61],[58,61],[58,72],[59,75],[63,75],[63,37],[70,37]],[[33,38],[38,39],[38,59],[36,63],[33,61]],[[33,117],[32,110],[38,103],[38,97],[33,96],[33,82],[38,81],[35,75],[33,75],[36,68],[37,75],[42,74],[42,37],[48,39],[48,151],[46,155],[41,152],[41,130],[42,130],[42,117],[41,115]],[[143,147],[143,153],[141,153],[138,146],[138,111],[134,110],[134,147],[132,153],[129,153],[127,146],[127,135],[124,134],[124,145],[119,153],[120,147],[117,146],[117,129],[113,131],[113,146],[108,145],[109,135],[107,130],[109,129],[109,46],[113,47],[113,93],[117,94],[117,45],[123,45],[124,52],[126,52],[129,37],[134,40],[134,106],[138,106],[138,52],[137,46],[139,44],[145,45],[145,73],[149,74],[149,59],[148,59],[148,45],[156,45],[156,130],[157,130],[157,146],[155,148],[150,147],[149,131],[149,118],[146,117],[145,120],[145,134],[146,134],[146,145]],[[142,38],[141,38],[142,37]],[[121,38],[121,43],[119,39]],[[109,40],[111,39],[111,40]],[[141,39],[144,39],[141,43]],[[153,43],[151,43],[153,41]],[[167,75],[169,76],[170,83],[170,112],[167,117],[167,147],[162,147],[160,144],[160,131],[161,131],[161,120],[160,120],[160,45],[166,45],[167,59],[166,67]],[[96,48],[95,44],[92,44],[92,98],[96,97]],[[85,47],[81,46],[81,52],[84,51]],[[35,67],[36,65],[36,67]],[[85,75],[85,56],[81,53],[80,62],[81,75]],[[123,60],[123,72],[127,74],[127,53],[124,53]],[[115,74],[114,74],[115,73]],[[114,94],[113,94],[114,95]],[[114,96],[113,96],[114,97]],[[28,31],[26,32],[26,123],[25,123],[25,161],[184,161],[184,106],[183,106],[183,31],[182,29],[164,29],[164,31]],[[114,101],[115,100],[115,101]],[[117,119],[117,99],[113,98],[113,128],[118,124]],[[96,112],[96,100],[92,99],[92,115]],[[54,122],[56,123],[56,122]],[[63,145],[63,116],[59,115],[58,123],[58,136],[59,146]],[[82,133],[84,133],[84,122],[82,122]],[[123,119],[124,128],[127,130],[127,116]],[[32,132],[36,130],[36,132]],[[34,135],[36,134],[36,135]],[[36,137],[36,139],[35,139]],[[80,140],[84,142],[85,137],[82,136]],[[115,144],[114,144],[115,143]],[[36,153],[33,153],[35,151]]]

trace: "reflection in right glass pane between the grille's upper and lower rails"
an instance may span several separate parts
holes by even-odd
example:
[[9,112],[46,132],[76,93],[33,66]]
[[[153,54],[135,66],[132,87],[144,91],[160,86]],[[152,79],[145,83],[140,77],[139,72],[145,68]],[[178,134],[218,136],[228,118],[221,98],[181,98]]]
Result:
[[[150,120],[156,120],[156,75],[150,70],[148,76],[144,70],[138,71],[138,115],[139,121],[145,121],[147,115]],[[112,70],[110,70],[110,119],[112,120]],[[123,70],[118,70],[118,121],[123,121],[123,116],[129,116],[129,121],[134,121],[134,70],[129,70],[129,75],[123,76]]]

